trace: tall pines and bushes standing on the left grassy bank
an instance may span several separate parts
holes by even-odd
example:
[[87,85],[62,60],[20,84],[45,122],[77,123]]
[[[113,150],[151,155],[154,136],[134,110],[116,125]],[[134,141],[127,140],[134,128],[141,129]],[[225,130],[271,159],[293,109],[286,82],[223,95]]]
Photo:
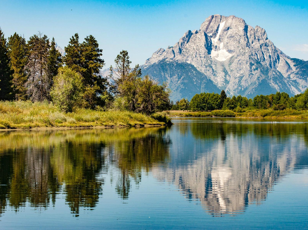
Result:
[[64,57],[55,46],[54,38],[50,42],[40,32],[26,41],[17,33],[6,39],[0,28],[0,100],[49,101],[65,112],[89,108],[151,114],[169,108],[170,90],[149,76],[141,78],[126,50],[103,77],[103,50],[92,35],[80,42],[74,34]]

